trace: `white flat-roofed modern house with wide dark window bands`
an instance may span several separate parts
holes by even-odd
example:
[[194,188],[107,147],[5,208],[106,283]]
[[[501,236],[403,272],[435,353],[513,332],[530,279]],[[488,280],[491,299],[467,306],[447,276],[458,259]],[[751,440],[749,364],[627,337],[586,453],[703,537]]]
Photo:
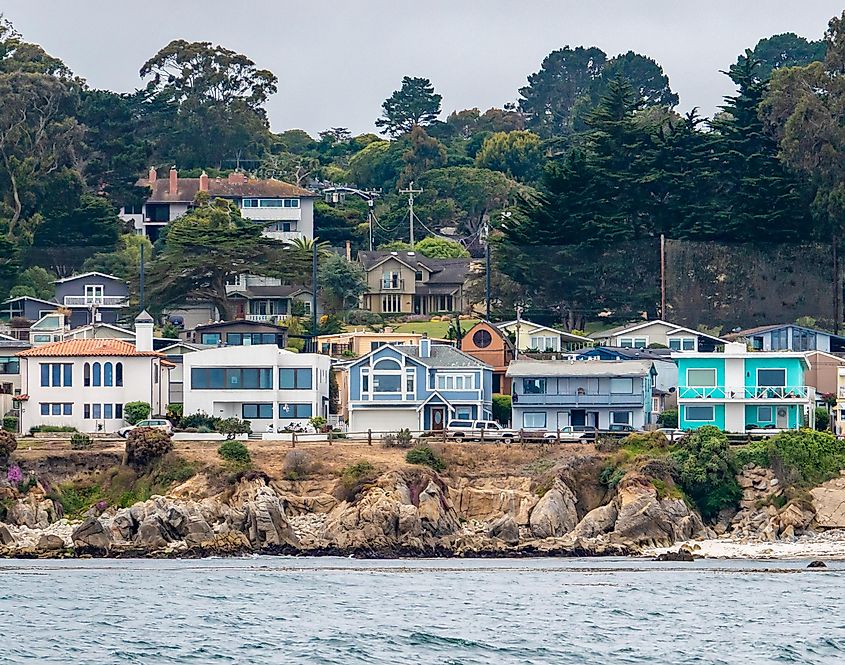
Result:
[[221,346],[182,358],[183,412],[250,421],[279,432],[329,414],[331,359],[276,344]]

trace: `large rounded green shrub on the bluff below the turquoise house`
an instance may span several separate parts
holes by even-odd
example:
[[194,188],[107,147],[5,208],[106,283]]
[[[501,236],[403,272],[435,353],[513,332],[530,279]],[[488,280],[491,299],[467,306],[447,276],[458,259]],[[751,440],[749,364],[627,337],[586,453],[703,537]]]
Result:
[[717,427],[695,430],[672,457],[677,463],[678,484],[703,517],[712,518],[739,501],[742,490],[736,481],[736,460],[727,437]]

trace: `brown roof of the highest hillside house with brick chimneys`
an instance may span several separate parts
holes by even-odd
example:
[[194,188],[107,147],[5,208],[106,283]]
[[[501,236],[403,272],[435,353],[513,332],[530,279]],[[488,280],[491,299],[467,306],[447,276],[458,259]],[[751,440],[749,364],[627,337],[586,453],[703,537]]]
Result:
[[[200,191],[199,178],[177,178],[176,192],[170,192],[170,178],[168,176],[156,178],[150,183],[146,178],[139,180],[138,185],[149,187],[151,190],[147,203],[192,203]],[[228,178],[209,178],[208,194],[212,198],[225,199],[240,198],[318,198],[319,194],[297,187],[281,180],[258,180],[246,178],[242,181],[231,181]]]

